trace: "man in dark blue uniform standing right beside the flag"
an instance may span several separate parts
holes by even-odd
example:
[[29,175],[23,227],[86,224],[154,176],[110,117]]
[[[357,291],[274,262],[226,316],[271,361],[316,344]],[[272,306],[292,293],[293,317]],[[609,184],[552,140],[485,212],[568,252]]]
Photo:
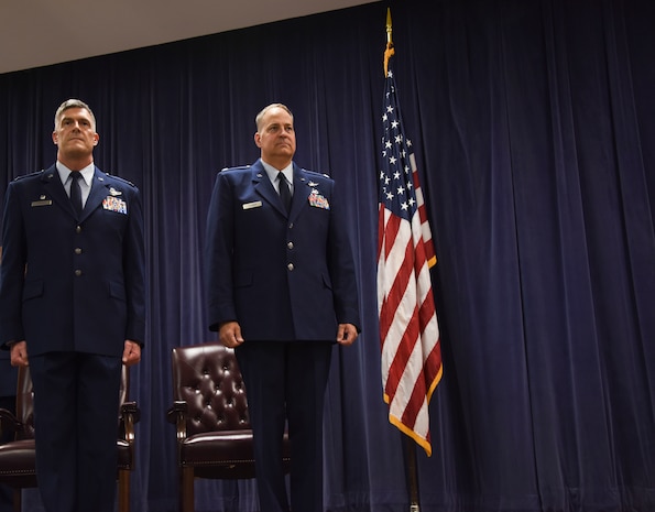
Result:
[[248,393],[262,512],[323,512],[323,410],[331,350],[359,334],[354,262],[335,182],[293,162],[293,115],[255,118],[261,159],[216,178],[207,225],[209,328],[234,347]]

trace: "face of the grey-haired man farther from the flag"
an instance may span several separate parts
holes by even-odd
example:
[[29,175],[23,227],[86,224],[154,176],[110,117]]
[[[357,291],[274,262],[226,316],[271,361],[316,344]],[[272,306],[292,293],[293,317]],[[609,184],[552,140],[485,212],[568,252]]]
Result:
[[66,156],[91,154],[100,137],[87,109],[72,107],[62,112],[53,131],[53,142]]

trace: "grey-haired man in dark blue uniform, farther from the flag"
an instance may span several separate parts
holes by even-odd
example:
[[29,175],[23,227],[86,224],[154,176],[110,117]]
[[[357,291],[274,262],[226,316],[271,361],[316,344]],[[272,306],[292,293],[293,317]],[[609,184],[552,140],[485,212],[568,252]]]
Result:
[[95,166],[86,104],[62,104],[52,138],[56,163],[7,189],[0,345],[30,364],[45,510],[111,512],[121,366],[145,333],[141,199]]

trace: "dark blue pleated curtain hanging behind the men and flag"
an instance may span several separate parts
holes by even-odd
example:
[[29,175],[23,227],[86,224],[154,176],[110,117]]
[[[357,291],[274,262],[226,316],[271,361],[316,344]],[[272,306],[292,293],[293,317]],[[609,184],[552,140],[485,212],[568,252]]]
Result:
[[[212,339],[209,194],[218,170],[258,157],[253,118],[271,101],[294,110],[296,162],[338,181],[357,248],[363,333],[334,359],[326,511],[408,510],[375,304],[387,7],[438,257],[444,378],[433,456],[417,453],[421,510],[655,510],[651,0],[374,2],[0,75],[2,196],[53,162],[68,97],[95,109],[98,166],[143,192],[133,510],[175,510],[170,353]],[[255,511],[253,483],[200,482],[197,510]]]

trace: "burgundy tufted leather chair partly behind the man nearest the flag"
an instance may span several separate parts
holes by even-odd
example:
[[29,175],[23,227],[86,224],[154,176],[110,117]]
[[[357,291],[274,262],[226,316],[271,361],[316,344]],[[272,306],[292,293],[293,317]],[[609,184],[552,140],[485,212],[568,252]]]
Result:
[[[245,386],[232,349],[218,342],[177,347],[172,353],[179,510],[195,509],[194,480],[254,478]],[[290,469],[288,437],[283,458]]]

